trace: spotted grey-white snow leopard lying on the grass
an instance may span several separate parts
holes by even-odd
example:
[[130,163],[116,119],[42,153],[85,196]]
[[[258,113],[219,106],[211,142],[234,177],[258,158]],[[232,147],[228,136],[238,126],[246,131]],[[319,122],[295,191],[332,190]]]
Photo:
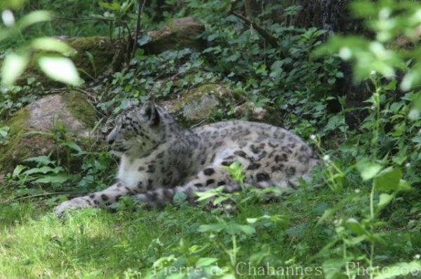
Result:
[[286,129],[241,120],[183,129],[152,101],[116,117],[107,143],[120,158],[116,183],[61,203],[57,215],[70,208],[110,206],[122,196],[161,208],[178,192],[192,203],[196,192],[215,187],[235,192],[241,185],[227,169],[234,162],[241,164],[247,185],[287,192],[319,162],[312,148]]

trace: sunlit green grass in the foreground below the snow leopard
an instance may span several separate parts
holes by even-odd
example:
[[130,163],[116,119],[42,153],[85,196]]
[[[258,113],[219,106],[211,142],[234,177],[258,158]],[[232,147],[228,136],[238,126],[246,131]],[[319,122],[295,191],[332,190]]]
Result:
[[[182,205],[161,211],[122,208],[115,213],[89,208],[76,210],[63,220],[55,217],[51,206],[43,206],[42,200],[2,203],[0,278],[135,278],[151,271],[157,259],[170,255],[177,258],[175,266],[194,266],[200,257],[215,257],[219,266],[227,266],[224,249],[230,248],[232,238],[223,233],[210,238],[198,232],[199,226],[217,223],[217,218],[246,224],[247,218],[276,214],[287,216],[288,225],[267,224],[251,236],[239,236],[237,262],[321,266],[327,255],[317,255],[335,231],[326,224],[316,226],[316,222],[344,195],[356,194],[305,187],[283,201],[246,203],[231,216]],[[349,203],[335,218],[357,214],[363,206],[361,199]],[[391,245],[378,248],[387,262],[415,255],[414,245],[421,244],[415,231],[401,229],[384,229],[385,239],[393,239]]]

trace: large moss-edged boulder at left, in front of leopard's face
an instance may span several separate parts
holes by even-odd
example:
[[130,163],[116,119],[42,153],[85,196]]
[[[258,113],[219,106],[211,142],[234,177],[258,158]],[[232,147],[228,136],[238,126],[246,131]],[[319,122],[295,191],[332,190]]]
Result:
[[30,132],[50,131],[55,119],[65,125],[67,136],[77,141],[90,136],[96,113],[85,96],[76,91],[46,96],[18,110],[5,123],[10,131],[8,143],[0,145],[0,172],[10,171],[22,159],[51,152],[55,148],[51,136]]

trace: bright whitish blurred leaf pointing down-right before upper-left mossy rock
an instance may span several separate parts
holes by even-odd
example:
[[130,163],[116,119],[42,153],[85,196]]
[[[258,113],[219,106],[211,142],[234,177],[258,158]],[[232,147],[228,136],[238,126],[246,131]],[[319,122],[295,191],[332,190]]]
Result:
[[69,85],[81,85],[83,80],[79,77],[72,60],[65,57],[44,56],[38,59],[39,67],[53,80]]

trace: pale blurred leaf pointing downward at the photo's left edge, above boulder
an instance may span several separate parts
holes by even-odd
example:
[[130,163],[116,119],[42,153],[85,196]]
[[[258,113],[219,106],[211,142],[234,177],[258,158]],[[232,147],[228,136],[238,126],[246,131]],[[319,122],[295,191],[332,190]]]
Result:
[[26,52],[20,54],[12,52],[6,55],[1,67],[1,84],[6,87],[13,85],[25,71],[28,63],[29,56]]

